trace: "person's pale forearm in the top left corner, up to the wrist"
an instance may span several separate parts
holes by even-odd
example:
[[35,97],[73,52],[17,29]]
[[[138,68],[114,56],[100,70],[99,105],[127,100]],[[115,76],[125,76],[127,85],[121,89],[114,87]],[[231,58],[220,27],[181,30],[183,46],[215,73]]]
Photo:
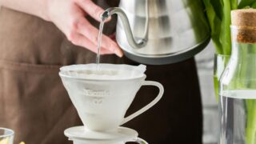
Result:
[[48,20],[48,0],[0,0],[0,5]]

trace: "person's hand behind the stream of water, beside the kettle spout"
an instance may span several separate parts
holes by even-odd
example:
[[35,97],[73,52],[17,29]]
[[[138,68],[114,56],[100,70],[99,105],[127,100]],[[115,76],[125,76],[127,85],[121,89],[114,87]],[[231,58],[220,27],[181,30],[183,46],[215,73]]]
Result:
[[[54,22],[70,42],[97,53],[98,29],[85,17],[89,14],[100,21],[102,8],[90,0],[48,0],[46,9],[46,20]],[[111,38],[102,35],[101,54],[117,54],[122,57],[122,50]]]

